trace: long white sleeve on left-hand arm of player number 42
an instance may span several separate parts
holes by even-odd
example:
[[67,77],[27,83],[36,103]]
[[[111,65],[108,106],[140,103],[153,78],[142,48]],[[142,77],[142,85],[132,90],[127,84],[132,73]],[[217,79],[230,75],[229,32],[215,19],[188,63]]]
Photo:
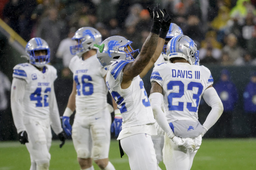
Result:
[[25,94],[26,81],[13,78],[10,90],[10,107],[17,133],[25,131],[22,114],[22,101]]

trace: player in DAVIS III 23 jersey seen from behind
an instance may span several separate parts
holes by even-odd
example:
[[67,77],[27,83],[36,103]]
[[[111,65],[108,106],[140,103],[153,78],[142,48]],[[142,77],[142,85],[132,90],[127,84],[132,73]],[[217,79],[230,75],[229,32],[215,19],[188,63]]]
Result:
[[[163,163],[166,170],[190,170],[202,136],[223,111],[212,87],[210,71],[195,65],[197,58],[193,40],[185,35],[175,36],[167,44],[169,63],[154,67],[151,74],[149,99],[155,119],[165,132]],[[211,107],[203,125],[198,122],[197,115],[201,97]],[[178,138],[170,140],[173,137]]]

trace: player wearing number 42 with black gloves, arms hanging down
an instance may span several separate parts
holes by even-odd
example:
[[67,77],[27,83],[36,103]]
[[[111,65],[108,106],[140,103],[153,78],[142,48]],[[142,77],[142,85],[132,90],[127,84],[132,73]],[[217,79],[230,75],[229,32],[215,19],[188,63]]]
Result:
[[[48,170],[51,128],[60,148],[65,142],[53,82],[56,69],[48,65],[50,49],[41,38],[30,39],[25,47],[29,63],[14,66],[11,85],[11,111],[19,142],[30,154],[30,170]],[[50,128],[51,127],[51,128]]]

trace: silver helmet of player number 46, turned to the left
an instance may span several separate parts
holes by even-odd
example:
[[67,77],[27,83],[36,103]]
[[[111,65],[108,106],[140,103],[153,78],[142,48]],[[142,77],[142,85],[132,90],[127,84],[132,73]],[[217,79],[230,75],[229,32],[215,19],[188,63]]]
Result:
[[92,27],[81,27],[79,28],[74,36],[72,37],[73,40],[78,42],[77,45],[70,46],[70,53],[76,54],[79,57],[82,56],[83,53],[89,51],[90,49],[97,49],[93,46],[93,44],[100,44],[101,43],[101,34],[98,30]]

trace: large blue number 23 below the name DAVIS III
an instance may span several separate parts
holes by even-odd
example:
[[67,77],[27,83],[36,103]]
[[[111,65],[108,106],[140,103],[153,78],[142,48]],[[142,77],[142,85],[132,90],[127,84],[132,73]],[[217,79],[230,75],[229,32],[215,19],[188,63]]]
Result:
[[[178,86],[179,90],[178,93],[170,93],[168,95],[168,108],[169,110],[176,110],[176,111],[183,111],[184,109],[184,102],[178,102],[178,105],[172,105],[172,99],[173,98],[181,98],[184,95],[184,83],[181,81],[170,81],[167,84],[167,90],[172,90],[173,86]],[[190,82],[187,85],[187,90],[193,90],[193,87],[198,88],[197,94],[193,94],[193,99],[195,99],[196,107],[192,107],[192,103],[187,102],[186,108],[190,112],[197,112],[200,95],[202,94],[203,86],[201,83],[198,82]]]

